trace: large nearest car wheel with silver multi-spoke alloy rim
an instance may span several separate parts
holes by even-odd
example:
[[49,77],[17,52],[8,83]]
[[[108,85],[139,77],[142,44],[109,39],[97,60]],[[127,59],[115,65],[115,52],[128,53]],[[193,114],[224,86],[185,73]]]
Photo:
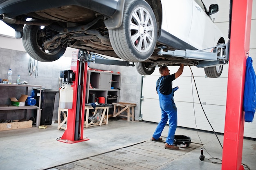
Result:
[[[144,17],[148,18],[146,22],[142,20]],[[145,0],[126,0],[122,24],[117,29],[110,29],[109,37],[121,59],[130,62],[147,60],[157,42],[157,23],[150,5]]]

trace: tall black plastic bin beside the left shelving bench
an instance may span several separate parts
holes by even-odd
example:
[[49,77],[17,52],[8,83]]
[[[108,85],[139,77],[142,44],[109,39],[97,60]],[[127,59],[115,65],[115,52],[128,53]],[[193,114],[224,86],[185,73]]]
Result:
[[[39,94],[40,88],[33,88],[35,91],[35,99],[36,99],[36,105],[39,106]],[[54,110],[54,101],[56,93],[58,93],[57,90],[51,90],[42,88],[41,91],[41,119],[40,119],[40,125],[51,125],[52,124],[52,116],[53,116],[53,110]]]

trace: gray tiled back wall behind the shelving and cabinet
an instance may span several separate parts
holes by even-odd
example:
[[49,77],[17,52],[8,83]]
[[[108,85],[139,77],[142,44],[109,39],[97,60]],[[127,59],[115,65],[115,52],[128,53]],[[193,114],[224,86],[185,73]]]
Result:
[[[69,69],[71,64],[70,57],[61,57],[55,62],[38,62],[38,77],[33,73],[29,76],[29,55],[22,51],[2,49],[0,48],[0,78],[7,79],[7,71],[9,68],[13,71],[13,83],[20,75],[21,81],[26,80],[29,84],[41,85],[42,88],[58,90],[60,71]],[[139,118],[140,112],[140,93],[141,93],[141,75],[136,71],[135,67],[112,66],[103,64],[89,64],[90,68],[96,68],[106,71],[115,71],[121,73],[121,91],[120,102],[136,103],[135,120]],[[32,88],[28,89],[30,94]],[[19,98],[25,93],[25,88],[0,88],[0,104],[10,104],[9,97]],[[54,102],[53,121],[58,119],[58,101],[59,93],[56,94]],[[33,110],[27,110],[27,119],[34,116]],[[24,110],[0,110],[0,119],[21,119],[24,117]]]

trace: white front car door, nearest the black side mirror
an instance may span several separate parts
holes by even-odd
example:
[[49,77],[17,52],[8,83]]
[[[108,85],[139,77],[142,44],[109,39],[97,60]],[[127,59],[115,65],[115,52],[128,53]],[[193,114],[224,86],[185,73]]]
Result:
[[[214,44],[215,26],[207,15],[201,0],[193,0],[192,24],[189,33],[189,44],[202,50],[211,48]],[[210,49],[211,50],[211,49]]]

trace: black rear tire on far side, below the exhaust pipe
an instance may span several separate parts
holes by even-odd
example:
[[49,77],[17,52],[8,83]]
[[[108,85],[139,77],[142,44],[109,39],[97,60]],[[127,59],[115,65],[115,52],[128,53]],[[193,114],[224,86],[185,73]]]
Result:
[[49,51],[44,50],[42,38],[38,36],[40,34],[40,26],[25,25],[23,34],[22,43],[25,50],[37,61],[53,62],[58,60],[66,51],[66,45]]

